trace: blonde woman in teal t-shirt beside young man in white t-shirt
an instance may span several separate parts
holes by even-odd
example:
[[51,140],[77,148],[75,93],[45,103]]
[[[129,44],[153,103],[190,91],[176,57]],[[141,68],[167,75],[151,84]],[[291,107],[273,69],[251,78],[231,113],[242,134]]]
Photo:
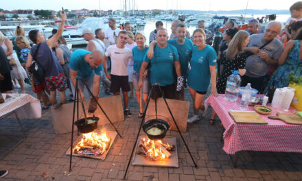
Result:
[[[141,63],[143,62],[143,57],[146,55],[148,48],[145,47],[146,37],[141,33],[137,32],[135,34],[135,43],[137,43],[137,47],[132,49],[133,55],[133,75],[132,75],[132,82],[135,88],[135,94],[137,95],[137,102],[140,104],[141,102],[141,92],[139,88],[139,71],[141,69]],[[148,69],[146,69],[145,73],[143,73],[143,101],[147,104],[149,87],[150,87],[150,80],[148,74]],[[140,110],[139,117],[143,117],[143,110]]]

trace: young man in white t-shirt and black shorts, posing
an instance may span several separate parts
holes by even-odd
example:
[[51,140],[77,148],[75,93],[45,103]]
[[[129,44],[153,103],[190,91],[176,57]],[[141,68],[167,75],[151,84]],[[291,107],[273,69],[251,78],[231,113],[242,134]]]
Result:
[[108,79],[111,79],[111,92],[114,95],[119,95],[120,88],[124,95],[124,114],[128,117],[132,116],[128,110],[128,91],[130,90],[128,82],[128,61],[132,58],[132,51],[125,47],[127,43],[126,31],[119,32],[117,36],[117,44],[111,45],[106,50],[104,60],[110,56],[111,58],[111,73],[107,72],[106,61],[103,62],[103,67]]

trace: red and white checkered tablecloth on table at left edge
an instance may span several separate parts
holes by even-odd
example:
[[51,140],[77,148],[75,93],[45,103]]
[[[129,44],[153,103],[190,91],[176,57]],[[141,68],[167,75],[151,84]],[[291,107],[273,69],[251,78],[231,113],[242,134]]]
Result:
[[[13,97],[12,94],[8,94]],[[41,117],[41,104],[40,101],[31,95],[20,94],[19,97],[14,97],[5,100],[3,104],[0,104],[0,117],[16,110],[16,113],[20,117]]]

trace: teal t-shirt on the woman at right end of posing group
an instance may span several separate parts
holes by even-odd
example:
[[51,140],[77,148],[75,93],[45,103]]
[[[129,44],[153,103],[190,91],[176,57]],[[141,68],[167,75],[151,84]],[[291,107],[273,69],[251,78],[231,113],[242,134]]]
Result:
[[198,50],[193,47],[191,58],[191,70],[187,78],[189,87],[198,91],[207,91],[211,80],[210,65],[216,65],[216,51],[207,45],[204,49]]

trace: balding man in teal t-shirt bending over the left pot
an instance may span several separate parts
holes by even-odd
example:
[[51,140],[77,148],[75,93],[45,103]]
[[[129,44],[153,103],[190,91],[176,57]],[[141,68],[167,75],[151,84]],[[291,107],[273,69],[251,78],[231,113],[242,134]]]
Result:
[[[84,49],[78,49],[71,53],[69,60],[70,79],[75,86],[75,76],[82,77],[89,90],[95,97],[98,98],[100,89],[100,75],[102,71],[103,55],[100,51],[86,51]],[[84,100],[84,84],[80,80],[78,81],[80,94]],[[74,88],[73,88],[74,89]],[[74,94],[74,90],[73,90]],[[73,95],[74,96],[74,95]]]

